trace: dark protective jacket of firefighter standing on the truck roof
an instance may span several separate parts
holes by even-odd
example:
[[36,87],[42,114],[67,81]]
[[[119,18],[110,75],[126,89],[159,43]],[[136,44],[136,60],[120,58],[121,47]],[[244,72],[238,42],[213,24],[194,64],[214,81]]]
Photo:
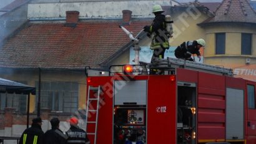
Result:
[[165,16],[163,14],[155,16],[151,26],[144,27],[145,32],[149,32],[150,35],[154,35],[150,49],[154,50],[159,49],[160,47],[169,49],[169,32],[166,31],[165,27]]

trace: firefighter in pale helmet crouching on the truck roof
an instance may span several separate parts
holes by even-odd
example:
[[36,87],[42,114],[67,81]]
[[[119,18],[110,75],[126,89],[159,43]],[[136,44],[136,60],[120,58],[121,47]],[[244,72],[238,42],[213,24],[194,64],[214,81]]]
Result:
[[199,50],[201,47],[205,47],[204,39],[197,39],[196,41],[183,42],[182,44],[180,44],[180,46],[178,46],[175,49],[174,54],[175,54],[175,57],[177,57],[178,59],[185,59],[190,61],[194,61],[191,55],[196,54],[200,61],[201,57],[200,57]]

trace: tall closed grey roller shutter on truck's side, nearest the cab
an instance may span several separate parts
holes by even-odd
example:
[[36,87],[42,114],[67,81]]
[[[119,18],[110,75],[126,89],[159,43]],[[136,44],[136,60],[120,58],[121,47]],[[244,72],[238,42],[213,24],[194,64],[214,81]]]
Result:
[[244,90],[227,88],[226,139],[244,139]]

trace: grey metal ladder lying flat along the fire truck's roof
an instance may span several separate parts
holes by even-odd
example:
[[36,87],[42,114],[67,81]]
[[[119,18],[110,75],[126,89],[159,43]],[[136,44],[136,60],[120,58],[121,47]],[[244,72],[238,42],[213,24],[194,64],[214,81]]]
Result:
[[234,75],[232,69],[208,64],[200,64],[197,62],[191,62],[189,60],[175,59],[171,57],[167,57],[167,59],[155,59],[154,64],[150,64],[149,68],[163,70],[175,70],[175,68],[185,68],[202,72],[210,72],[212,74],[229,75],[231,77]]

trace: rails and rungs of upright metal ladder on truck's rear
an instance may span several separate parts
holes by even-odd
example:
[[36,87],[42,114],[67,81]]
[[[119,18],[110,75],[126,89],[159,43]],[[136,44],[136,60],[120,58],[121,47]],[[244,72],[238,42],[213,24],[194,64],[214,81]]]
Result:
[[[91,90],[97,90],[97,98],[90,98],[90,91]],[[100,95],[101,95],[101,86],[99,87],[91,87],[89,86],[88,88],[88,97],[87,97],[87,108],[86,108],[86,132],[87,132],[87,123],[95,123],[95,130],[94,133],[87,133],[87,135],[94,135],[94,144],[96,144],[97,140],[97,122],[98,122],[98,117],[99,117],[99,100],[100,100]],[[92,100],[97,100],[97,106],[96,109],[94,108],[93,110],[90,110],[89,105],[90,101]],[[96,112],[96,121],[88,121],[88,115],[90,112]]]

